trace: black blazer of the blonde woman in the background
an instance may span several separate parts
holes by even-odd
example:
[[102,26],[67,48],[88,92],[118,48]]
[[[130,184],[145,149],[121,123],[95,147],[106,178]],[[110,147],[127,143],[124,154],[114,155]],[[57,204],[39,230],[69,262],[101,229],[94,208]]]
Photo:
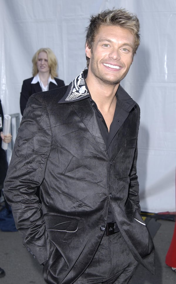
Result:
[[[38,93],[38,92],[42,92],[42,89],[40,87],[39,82],[37,82],[36,84],[31,84],[32,80],[34,77],[31,77],[29,79],[26,79],[23,81],[23,85],[22,85],[22,89],[21,89],[21,95],[20,95],[20,110],[21,110],[21,114],[23,115],[24,109],[26,107],[27,101],[29,99],[29,97],[32,94]],[[50,82],[49,84],[49,90],[52,89],[57,89],[60,87],[65,86],[64,81],[54,78],[57,85],[55,85],[54,83]]]

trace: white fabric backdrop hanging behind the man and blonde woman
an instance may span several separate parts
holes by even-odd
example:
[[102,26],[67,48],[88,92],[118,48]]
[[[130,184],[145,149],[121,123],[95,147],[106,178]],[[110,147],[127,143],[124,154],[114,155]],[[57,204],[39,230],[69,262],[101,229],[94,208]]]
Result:
[[69,84],[85,67],[85,28],[92,14],[126,8],[141,24],[141,44],[121,85],[141,108],[138,177],[141,209],[175,211],[176,1],[0,0],[0,97],[4,114],[20,113],[24,79],[40,47],[55,53]]

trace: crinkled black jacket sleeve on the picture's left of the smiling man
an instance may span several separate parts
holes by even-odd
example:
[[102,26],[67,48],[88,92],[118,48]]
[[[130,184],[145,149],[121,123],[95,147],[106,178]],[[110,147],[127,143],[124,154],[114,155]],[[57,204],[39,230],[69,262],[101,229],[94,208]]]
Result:
[[43,263],[53,243],[45,231],[41,204],[35,195],[45,175],[51,149],[51,127],[41,94],[30,97],[14,145],[4,182],[4,195],[12,207],[23,244]]

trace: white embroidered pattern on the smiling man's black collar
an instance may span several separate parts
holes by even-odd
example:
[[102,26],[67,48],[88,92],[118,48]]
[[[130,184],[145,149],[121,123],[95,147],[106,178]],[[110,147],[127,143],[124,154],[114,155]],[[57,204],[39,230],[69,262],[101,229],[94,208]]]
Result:
[[65,98],[65,101],[67,102],[79,100],[89,95],[89,92],[86,88],[83,71],[75,78],[74,81],[72,81],[70,87],[71,87],[70,92]]

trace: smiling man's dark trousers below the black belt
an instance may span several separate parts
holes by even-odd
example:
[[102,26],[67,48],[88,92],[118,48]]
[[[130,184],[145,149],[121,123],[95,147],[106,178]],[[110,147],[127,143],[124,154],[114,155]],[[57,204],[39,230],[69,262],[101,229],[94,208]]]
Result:
[[104,235],[93,260],[74,283],[126,284],[137,265],[121,232],[108,237]]

